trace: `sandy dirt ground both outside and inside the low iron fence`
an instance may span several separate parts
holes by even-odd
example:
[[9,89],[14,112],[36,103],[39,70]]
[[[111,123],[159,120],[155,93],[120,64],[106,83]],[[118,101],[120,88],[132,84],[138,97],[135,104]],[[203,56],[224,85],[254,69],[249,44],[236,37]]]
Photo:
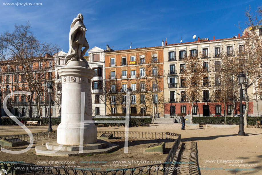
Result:
[[[40,128],[41,127],[41,128]],[[32,132],[47,130],[47,126],[29,127],[33,128]],[[1,126],[0,135],[21,134],[18,126]],[[56,127],[54,126],[53,129]],[[180,165],[177,174],[261,174],[262,173],[262,129],[245,128],[246,136],[238,136],[238,128],[235,129],[216,129],[200,127],[198,129],[185,128],[181,130],[181,124],[154,124],[149,127],[132,127],[129,131],[163,131],[181,134],[182,153],[179,158]],[[98,127],[100,131],[125,131],[124,127]],[[35,145],[41,145],[52,139],[35,140]],[[117,140],[112,140],[116,143]],[[45,157],[34,155],[32,148],[24,154],[7,154],[0,152],[0,161],[25,161],[34,163],[36,161],[75,161],[75,164],[67,164],[67,166],[84,167],[102,167],[107,164],[108,168],[120,168],[113,160],[123,161],[141,161],[141,160],[165,160],[172,142],[167,143],[165,154],[152,154],[143,152],[144,148],[152,143],[159,143],[163,140],[135,140],[129,139],[129,152],[124,153],[124,148],[110,154],[84,156],[84,157]],[[165,140],[167,141],[167,140]],[[123,146],[123,140],[117,143]],[[34,146],[35,146],[34,145]],[[7,148],[7,147],[6,147]],[[15,150],[16,148],[10,148]],[[80,161],[107,161],[107,163],[81,163]],[[234,161],[233,163],[231,161]],[[50,166],[57,166],[54,162]],[[41,163],[38,163],[41,164]],[[113,164],[113,165],[112,165]],[[59,164],[58,164],[59,165]],[[110,167],[110,165],[112,165]],[[134,162],[128,167],[143,166],[146,164]],[[61,166],[61,165],[60,165]],[[191,167],[189,167],[191,166]],[[199,166],[200,170],[197,170]],[[74,167],[72,167],[74,168]],[[202,168],[202,169],[201,169]],[[105,168],[104,168],[105,169]],[[229,170],[231,169],[231,170]],[[102,168],[101,168],[102,170]]]

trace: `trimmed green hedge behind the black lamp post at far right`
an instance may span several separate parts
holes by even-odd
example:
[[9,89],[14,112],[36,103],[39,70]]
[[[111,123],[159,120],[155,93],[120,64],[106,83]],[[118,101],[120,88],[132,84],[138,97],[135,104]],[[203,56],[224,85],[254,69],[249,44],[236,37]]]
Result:
[[[240,117],[226,117],[227,125],[236,125],[239,123]],[[251,126],[256,125],[256,121],[260,121],[262,117],[247,117],[247,124]],[[193,117],[193,123],[198,123],[200,125],[206,125],[206,124],[224,124],[225,123],[225,117]]]

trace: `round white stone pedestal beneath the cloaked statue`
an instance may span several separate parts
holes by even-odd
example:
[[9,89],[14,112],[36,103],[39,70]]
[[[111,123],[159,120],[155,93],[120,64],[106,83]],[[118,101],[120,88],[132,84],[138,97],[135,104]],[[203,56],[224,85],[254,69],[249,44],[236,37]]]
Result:
[[[57,143],[63,145],[80,144],[81,92],[85,92],[84,120],[92,120],[91,79],[92,69],[85,62],[70,61],[67,66],[57,70],[62,80],[61,123],[57,127]],[[97,142],[97,128],[93,123],[83,125],[83,144]]]

